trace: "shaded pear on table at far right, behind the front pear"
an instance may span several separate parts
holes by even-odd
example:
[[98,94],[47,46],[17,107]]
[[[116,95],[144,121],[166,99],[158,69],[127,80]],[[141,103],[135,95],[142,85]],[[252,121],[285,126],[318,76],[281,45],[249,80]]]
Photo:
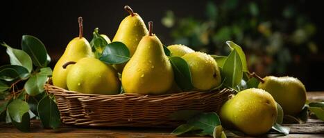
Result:
[[306,88],[294,77],[264,77],[258,88],[269,92],[277,101],[284,115],[297,115],[306,103]]

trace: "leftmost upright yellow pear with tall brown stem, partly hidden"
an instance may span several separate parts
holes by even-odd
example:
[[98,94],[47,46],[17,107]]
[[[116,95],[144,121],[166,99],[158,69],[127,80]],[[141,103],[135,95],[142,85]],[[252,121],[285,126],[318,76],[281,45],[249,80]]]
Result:
[[83,37],[83,24],[82,24],[82,17],[78,18],[79,22],[79,37],[72,39],[65,52],[63,53],[62,57],[56,63],[56,66],[53,70],[53,85],[58,86],[60,88],[67,89],[67,69],[62,68],[63,64],[67,63],[68,61],[78,61],[83,57],[94,57],[92,53],[91,46],[87,39]]

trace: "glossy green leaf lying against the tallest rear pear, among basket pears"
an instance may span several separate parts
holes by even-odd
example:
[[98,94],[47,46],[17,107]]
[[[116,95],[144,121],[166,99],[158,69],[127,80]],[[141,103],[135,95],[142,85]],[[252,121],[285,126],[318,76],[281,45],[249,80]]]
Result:
[[130,59],[130,52],[125,44],[114,41],[105,46],[99,59],[108,64],[124,63]]

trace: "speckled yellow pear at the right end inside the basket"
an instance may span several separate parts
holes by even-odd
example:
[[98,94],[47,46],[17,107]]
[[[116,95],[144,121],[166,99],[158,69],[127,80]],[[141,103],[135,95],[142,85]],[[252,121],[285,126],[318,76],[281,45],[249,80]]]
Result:
[[210,90],[221,84],[221,72],[216,61],[203,52],[190,52],[182,56],[187,61],[194,88]]

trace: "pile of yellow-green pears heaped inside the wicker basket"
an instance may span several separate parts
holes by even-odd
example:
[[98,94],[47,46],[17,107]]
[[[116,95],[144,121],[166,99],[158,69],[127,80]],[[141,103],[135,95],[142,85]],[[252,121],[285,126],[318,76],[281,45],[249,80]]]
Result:
[[[125,6],[129,16],[121,21],[113,42],[127,46],[127,63],[108,65],[97,59],[87,39],[83,37],[82,18],[79,37],[69,42],[53,70],[53,84],[60,88],[88,94],[116,95],[125,93],[162,95],[180,91],[174,80],[173,68],[164,53],[160,39],[153,34],[153,22],[146,24]],[[110,39],[101,34],[107,43]],[[172,56],[182,57],[189,64],[196,90],[210,90],[221,84],[216,61],[203,52],[195,52],[183,45],[168,47]],[[102,52],[102,50],[101,50]],[[72,65],[73,64],[73,65]],[[121,74],[121,81],[118,73]]]

